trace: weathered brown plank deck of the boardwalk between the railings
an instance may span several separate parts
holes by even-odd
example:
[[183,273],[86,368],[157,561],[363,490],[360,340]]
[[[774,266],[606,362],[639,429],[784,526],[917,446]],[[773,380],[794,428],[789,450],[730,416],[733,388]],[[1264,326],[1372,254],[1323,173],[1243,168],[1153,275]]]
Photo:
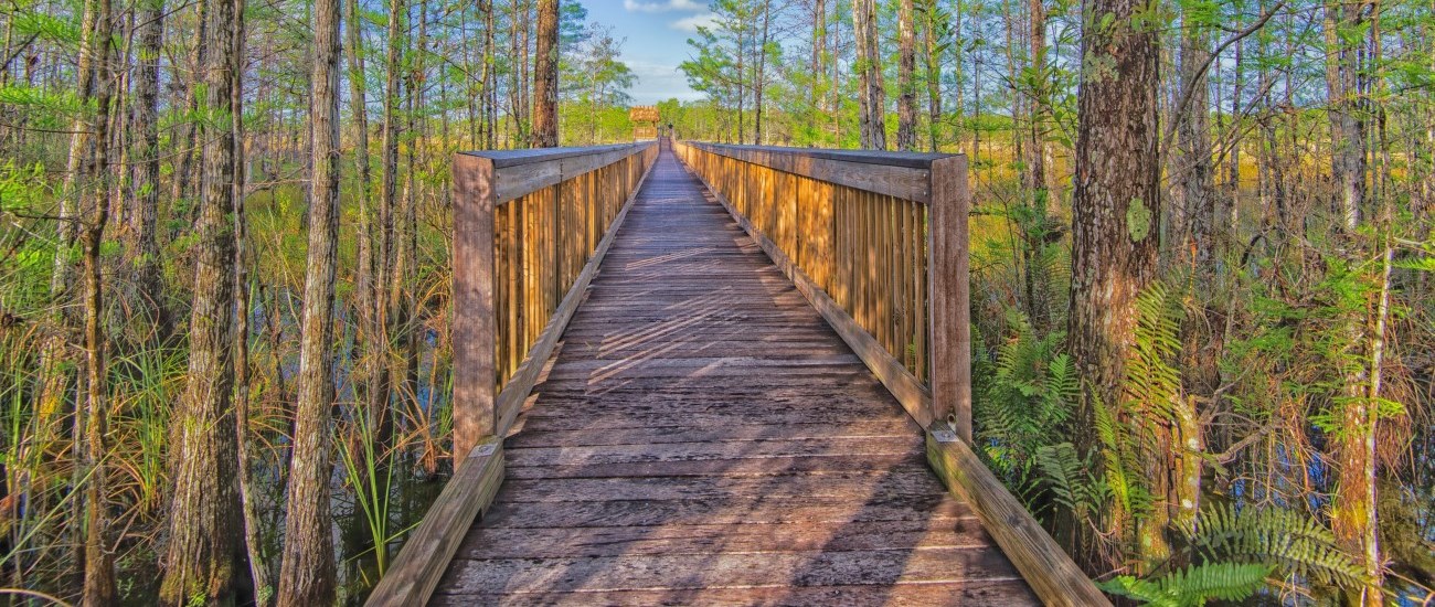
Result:
[[667,151],[432,604],[1033,604],[897,405]]

